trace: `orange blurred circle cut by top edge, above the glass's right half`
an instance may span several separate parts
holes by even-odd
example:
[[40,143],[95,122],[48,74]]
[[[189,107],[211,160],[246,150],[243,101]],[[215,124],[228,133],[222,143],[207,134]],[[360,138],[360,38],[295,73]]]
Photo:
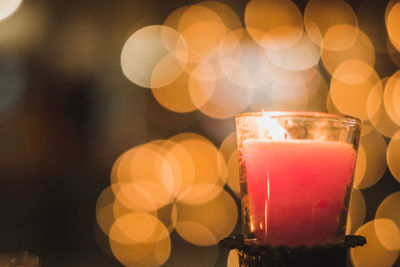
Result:
[[[339,30],[340,40],[333,40],[333,36],[326,36],[331,27],[335,25],[348,25],[354,28]],[[342,0],[310,0],[304,11],[304,26],[310,39],[317,45],[328,50],[342,50],[354,43],[357,33],[357,17],[349,4]],[[345,26],[346,27],[346,26]],[[344,29],[344,28],[342,28]],[[333,42],[323,42],[332,40]]]

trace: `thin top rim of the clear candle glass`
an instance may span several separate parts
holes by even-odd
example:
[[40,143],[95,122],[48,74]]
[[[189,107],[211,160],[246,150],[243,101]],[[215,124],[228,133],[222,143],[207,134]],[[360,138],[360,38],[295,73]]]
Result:
[[294,118],[315,118],[315,119],[336,119],[336,120],[345,120],[347,123],[352,123],[354,125],[360,126],[361,120],[356,117],[341,115],[341,114],[333,114],[326,112],[317,112],[317,111],[278,111],[278,110],[269,110],[269,111],[251,111],[239,113],[235,116],[236,119],[242,117],[261,117],[268,116],[273,118],[284,118],[284,117],[294,117]]

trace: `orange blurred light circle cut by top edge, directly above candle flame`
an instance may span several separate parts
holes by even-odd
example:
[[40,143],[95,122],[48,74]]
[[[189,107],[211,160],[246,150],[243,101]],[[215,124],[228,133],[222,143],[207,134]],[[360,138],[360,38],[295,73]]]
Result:
[[252,0],[244,20],[251,37],[265,48],[288,48],[303,35],[301,12],[290,0]]

